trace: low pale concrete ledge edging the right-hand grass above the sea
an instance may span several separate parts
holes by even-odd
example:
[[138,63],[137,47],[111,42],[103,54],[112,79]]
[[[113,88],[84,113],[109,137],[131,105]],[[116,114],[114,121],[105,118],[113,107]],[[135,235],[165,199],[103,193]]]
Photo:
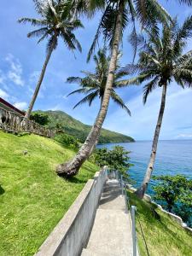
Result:
[[[137,189],[133,188],[131,185],[129,185],[129,189],[133,192],[135,192]],[[160,205],[158,205],[157,203],[155,203],[155,201],[152,200],[150,195],[145,194],[143,197],[146,201],[149,201],[150,203],[152,203],[154,206],[158,207],[160,209],[161,212],[166,213],[170,218],[172,218],[173,220],[175,220],[178,224],[180,224],[183,229],[189,231],[192,233],[192,229],[190,229],[188,227],[187,224],[185,224],[183,222],[183,219],[179,216],[177,216],[176,214],[172,213],[172,212],[167,212],[166,210],[163,209],[163,207],[161,207]]]

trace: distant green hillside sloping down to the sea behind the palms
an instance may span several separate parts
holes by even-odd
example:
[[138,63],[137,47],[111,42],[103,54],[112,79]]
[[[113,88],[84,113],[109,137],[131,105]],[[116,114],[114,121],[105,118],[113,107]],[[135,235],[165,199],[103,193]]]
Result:
[[[81,143],[84,143],[90,131],[90,125],[84,125],[77,119],[73,119],[72,116],[62,111],[46,111],[49,114],[49,128],[55,128],[56,124],[59,124],[62,129],[70,135],[79,138]],[[99,139],[99,143],[132,143],[134,139],[129,136],[125,136],[118,132],[108,131],[102,129],[102,133]]]

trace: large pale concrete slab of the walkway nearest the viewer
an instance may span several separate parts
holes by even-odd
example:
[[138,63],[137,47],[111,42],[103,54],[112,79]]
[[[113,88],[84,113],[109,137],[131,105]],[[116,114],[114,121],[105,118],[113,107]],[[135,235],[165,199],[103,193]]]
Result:
[[107,255],[131,255],[129,215],[119,210],[97,209],[87,249]]

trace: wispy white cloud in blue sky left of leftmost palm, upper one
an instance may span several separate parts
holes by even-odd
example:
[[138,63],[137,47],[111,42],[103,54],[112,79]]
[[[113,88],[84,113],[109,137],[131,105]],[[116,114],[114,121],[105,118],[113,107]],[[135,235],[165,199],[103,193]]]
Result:
[[14,55],[7,55],[5,58],[9,62],[10,70],[8,72],[8,78],[17,85],[23,86],[24,80],[22,79],[22,67],[20,61],[15,59]]

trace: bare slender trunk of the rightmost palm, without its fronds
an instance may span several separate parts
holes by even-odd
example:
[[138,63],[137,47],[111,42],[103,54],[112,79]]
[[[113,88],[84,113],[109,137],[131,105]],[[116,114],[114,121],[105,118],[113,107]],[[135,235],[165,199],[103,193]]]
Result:
[[137,191],[136,191],[136,195],[139,198],[143,198],[146,190],[148,189],[148,183],[150,181],[150,178],[151,178],[151,175],[152,175],[152,172],[154,169],[154,160],[155,160],[155,156],[156,156],[156,152],[157,152],[157,144],[158,144],[158,140],[159,140],[159,136],[160,136],[160,127],[162,125],[162,119],[163,119],[163,114],[164,114],[165,105],[166,105],[166,87],[167,87],[167,85],[164,84],[162,96],[161,96],[160,113],[158,116],[155,131],[154,131],[154,140],[153,140],[153,144],[152,144],[152,151],[151,151],[150,160],[148,163],[148,168],[145,173],[145,177],[143,179],[142,186],[139,189],[137,189]]

